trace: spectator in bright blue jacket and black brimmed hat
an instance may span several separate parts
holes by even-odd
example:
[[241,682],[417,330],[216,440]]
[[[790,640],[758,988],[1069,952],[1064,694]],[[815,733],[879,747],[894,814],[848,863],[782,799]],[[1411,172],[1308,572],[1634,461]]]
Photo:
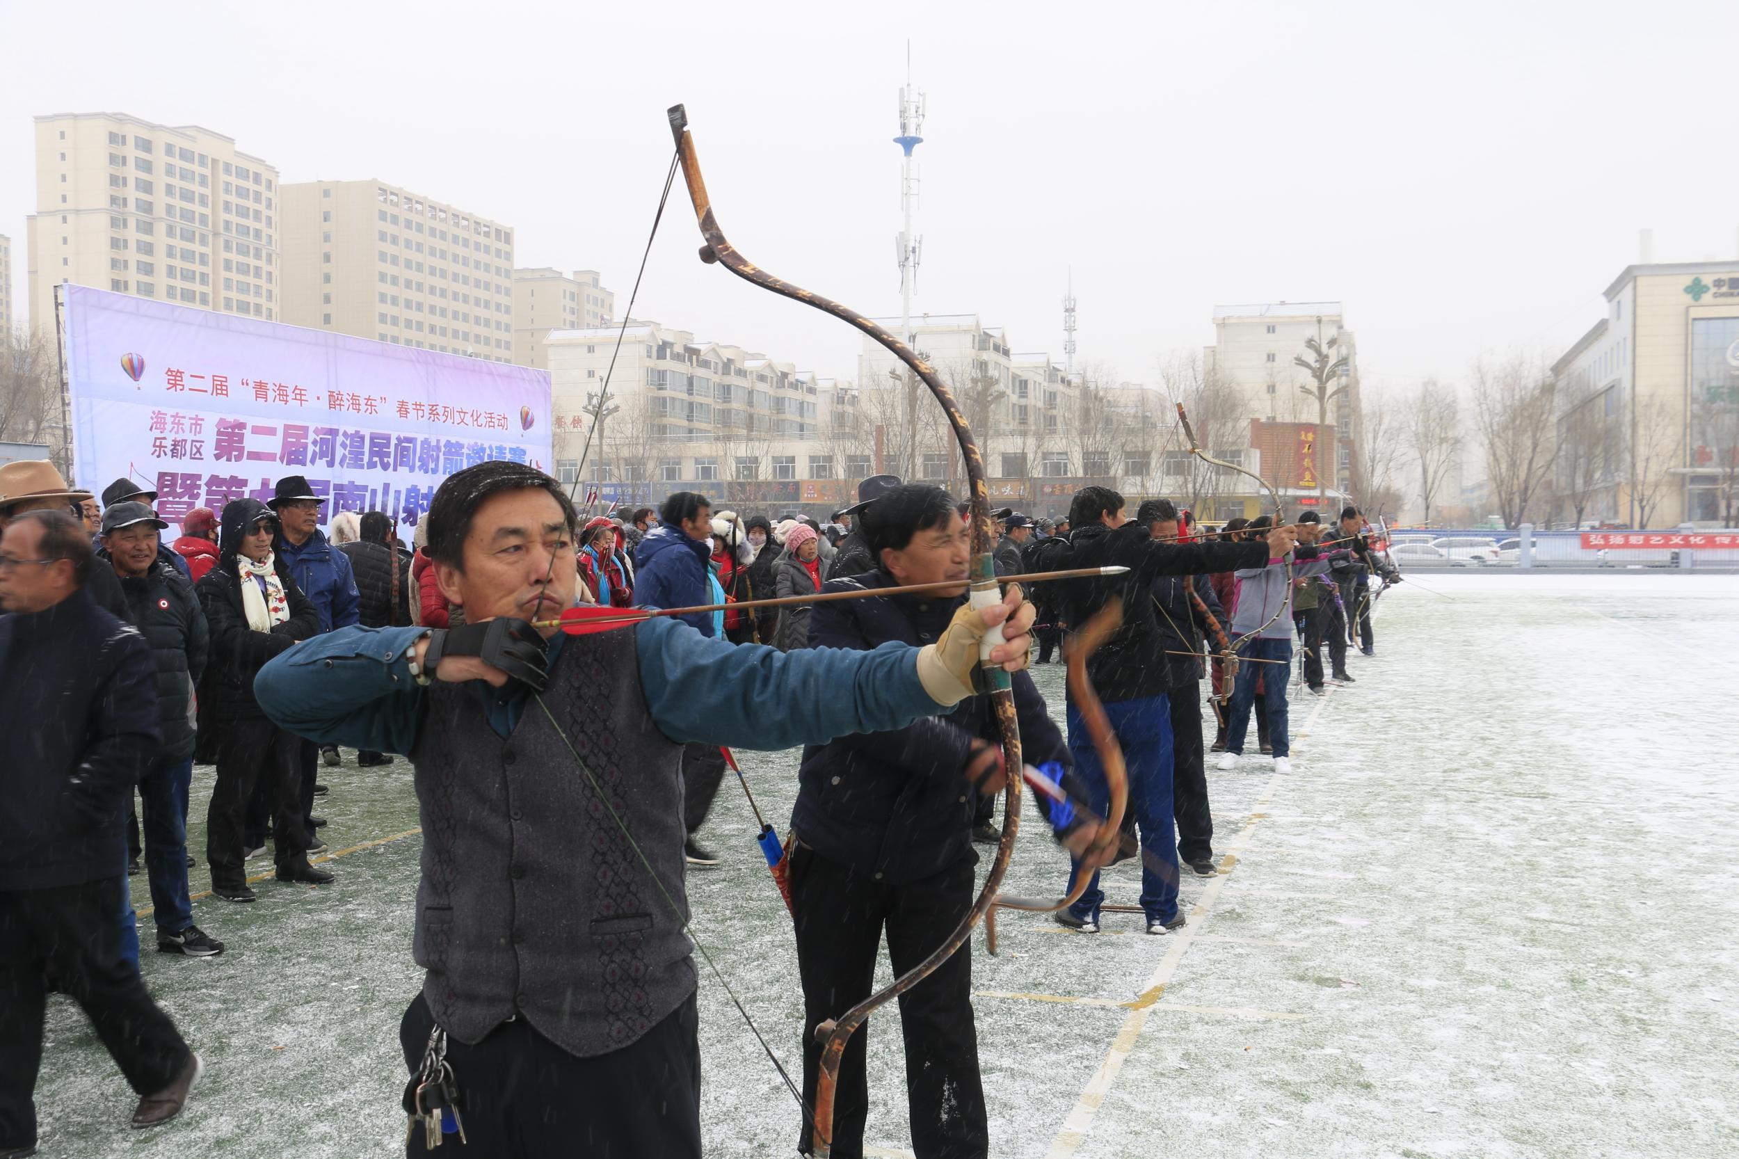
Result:
[[[278,538],[271,550],[290,566],[290,578],[296,586],[315,606],[320,616],[320,630],[348,628],[356,623],[362,613],[362,597],[356,592],[356,576],[351,573],[350,557],[327,543],[320,533],[320,505],[325,503],[313,492],[301,475],[285,475],[278,480],[277,492],[266,503],[278,517]],[[310,853],[320,851],[325,842],[315,832],[325,825],[325,818],[315,823],[315,764],[320,754],[325,762],[337,767],[337,745],[315,745],[303,741],[303,827],[308,830]],[[264,842],[266,799],[256,795],[249,806],[249,847]],[[257,828],[256,828],[257,825]]]

